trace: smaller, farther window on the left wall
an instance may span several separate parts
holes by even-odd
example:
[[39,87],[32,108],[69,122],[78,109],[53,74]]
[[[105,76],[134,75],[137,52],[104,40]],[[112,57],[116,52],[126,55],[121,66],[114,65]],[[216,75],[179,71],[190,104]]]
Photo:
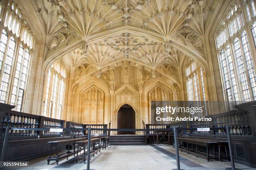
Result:
[[57,60],[51,65],[47,76],[44,116],[56,119],[61,118],[64,102],[65,79],[66,68],[61,60]]

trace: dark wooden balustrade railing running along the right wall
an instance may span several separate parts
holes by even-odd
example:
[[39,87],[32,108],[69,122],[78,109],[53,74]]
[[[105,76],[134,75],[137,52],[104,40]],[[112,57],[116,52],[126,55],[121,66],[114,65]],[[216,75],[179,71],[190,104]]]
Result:
[[[171,124],[147,124],[146,135],[153,133],[151,129],[164,129],[172,127],[182,128],[219,128],[230,127],[230,134],[236,136],[252,135],[256,136],[256,101],[243,103],[235,106],[237,110],[229,112],[205,116],[211,118],[211,121],[186,121],[174,122]],[[197,132],[197,130],[189,130],[178,133],[189,133],[190,135],[226,135],[225,129],[215,131]]]

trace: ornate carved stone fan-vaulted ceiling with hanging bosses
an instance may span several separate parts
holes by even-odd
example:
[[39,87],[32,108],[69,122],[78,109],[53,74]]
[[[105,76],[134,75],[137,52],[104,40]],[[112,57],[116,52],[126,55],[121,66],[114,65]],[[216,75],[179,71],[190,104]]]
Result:
[[48,60],[56,59],[54,52],[66,49],[73,67],[91,65],[102,70],[129,60],[159,72],[169,66],[180,67],[190,54],[206,63],[205,30],[218,3],[218,0],[35,1],[35,12],[46,34]]

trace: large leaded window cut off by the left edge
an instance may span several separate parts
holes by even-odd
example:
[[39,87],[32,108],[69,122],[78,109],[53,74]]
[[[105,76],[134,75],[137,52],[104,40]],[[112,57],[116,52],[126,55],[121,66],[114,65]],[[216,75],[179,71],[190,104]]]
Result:
[[[0,102],[23,107],[33,35],[19,8],[8,2],[0,38]],[[0,5],[0,9],[3,6]]]

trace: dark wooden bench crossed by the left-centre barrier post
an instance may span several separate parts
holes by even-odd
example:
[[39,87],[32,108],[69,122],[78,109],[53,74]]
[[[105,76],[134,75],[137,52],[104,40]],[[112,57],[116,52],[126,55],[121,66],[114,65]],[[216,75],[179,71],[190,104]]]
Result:
[[[76,160],[76,162],[78,160],[84,160],[84,163],[85,163],[85,160],[87,160],[87,151],[85,152],[87,145],[88,145],[88,140],[81,140],[81,141],[77,142],[77,156],[74,158]],[[83,148],[84,153],[82,153],[81,155],[78,155],[80,147]],[[90,156],[94,156],[95,153],[98,154],[98,152],[100,153],[100,148],[101,148],[100,147],[100,138],[91,139],[90,148],[92,148],[90,150]]]

